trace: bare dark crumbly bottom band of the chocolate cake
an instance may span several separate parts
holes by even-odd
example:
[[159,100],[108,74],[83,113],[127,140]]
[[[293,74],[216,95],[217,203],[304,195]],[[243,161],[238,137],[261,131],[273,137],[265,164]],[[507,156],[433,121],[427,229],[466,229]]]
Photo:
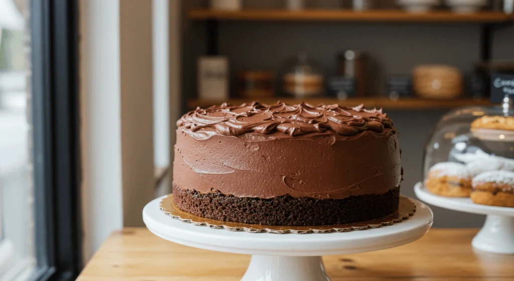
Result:
[[263,225],[331,225],[387,216],[398,209],[400,188],[384,194],[345,199],[279,196],[271,199],[238,198],[221,192],[202,194],[173,186],[173,200],[181,210],[196,216]]

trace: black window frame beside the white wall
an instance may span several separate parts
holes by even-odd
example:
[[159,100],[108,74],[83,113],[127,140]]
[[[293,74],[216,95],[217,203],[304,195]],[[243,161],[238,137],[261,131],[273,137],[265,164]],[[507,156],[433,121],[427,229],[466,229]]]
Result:
[[33,280],[82,268],[78,0],[30,1],[35,252]]

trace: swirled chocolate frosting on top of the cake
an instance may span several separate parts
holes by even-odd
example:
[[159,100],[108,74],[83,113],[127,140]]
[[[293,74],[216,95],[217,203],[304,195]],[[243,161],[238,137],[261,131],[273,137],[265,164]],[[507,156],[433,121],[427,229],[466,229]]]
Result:
[[382,133],[392,129],[393,123],[382,110],[366,110],[362,106],[341,107],[338,104],[307,103],[273,105],[253,101],[240,106],[227,103],[207,109],[196,108],[183,115],[177,126],[192,132],[195,138],[209,138],[215,134],[227,136],[257,132],[282,133],[299,136],[309,133],[331,133],[351,136],[363,131]]

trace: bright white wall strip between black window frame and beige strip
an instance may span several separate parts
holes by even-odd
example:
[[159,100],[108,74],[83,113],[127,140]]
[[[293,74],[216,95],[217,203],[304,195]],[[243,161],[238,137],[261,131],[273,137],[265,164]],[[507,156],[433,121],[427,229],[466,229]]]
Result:
[[80,3],[84,260],[123,226],[119,2]]

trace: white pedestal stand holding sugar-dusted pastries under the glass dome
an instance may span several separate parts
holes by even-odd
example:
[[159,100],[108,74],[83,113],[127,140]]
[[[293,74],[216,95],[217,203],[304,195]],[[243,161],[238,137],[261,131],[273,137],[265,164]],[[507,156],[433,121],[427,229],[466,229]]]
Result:
[[475,204],[470,198],[434,195],[422,183],[417,183],[414,191],[420,200],[434,206],[487,215],[484,226],[473,238],[473,247],[484,252],[514,254],[514,208]]

